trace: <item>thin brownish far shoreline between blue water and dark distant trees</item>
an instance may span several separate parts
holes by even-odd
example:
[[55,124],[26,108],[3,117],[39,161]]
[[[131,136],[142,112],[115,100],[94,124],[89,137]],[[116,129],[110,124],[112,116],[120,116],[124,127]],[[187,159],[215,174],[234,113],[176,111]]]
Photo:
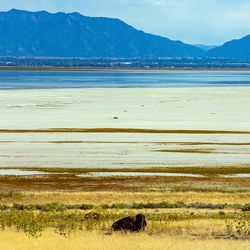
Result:
[[75,72],[180,72],[180,71],[201,71],[201,72],[227,72],[239,71],[249,72],[250,68],[98,68],[98,67],[22,67],[22,66],[0,66],[0,71],[75,71]]

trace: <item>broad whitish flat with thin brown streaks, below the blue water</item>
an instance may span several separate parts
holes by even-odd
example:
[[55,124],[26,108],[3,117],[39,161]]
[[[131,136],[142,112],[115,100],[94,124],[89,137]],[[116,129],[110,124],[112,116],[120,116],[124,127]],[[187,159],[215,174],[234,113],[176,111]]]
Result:
[[250,163],[247,87],[0,92],[0,167]]

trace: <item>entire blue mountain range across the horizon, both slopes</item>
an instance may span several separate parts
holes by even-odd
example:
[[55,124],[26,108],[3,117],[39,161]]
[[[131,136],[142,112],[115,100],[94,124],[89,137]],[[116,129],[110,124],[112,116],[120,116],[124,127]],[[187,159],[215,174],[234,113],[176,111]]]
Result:
[[207,49],[75,13],[0,12],[0,56],[250,59],[250,36]]

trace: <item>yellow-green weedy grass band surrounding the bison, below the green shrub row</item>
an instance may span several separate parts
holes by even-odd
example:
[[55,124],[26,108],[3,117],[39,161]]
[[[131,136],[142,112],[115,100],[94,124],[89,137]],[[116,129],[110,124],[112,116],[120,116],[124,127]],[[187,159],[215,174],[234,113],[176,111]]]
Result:
[[[100,219],[89,219],[85,215],[88,211],[30,211],[10,209],[0,212],[0,228],[2,230],[15,229],[30,236],[41,236],[46,230],[53,230],[64,236],[77,231],[108,232],[111,225],[119,218],[143,212],[147,218],[146,231],[151,235],[232,235],[246,236],[250,234],[250,216],[248,213],[226,212],[189,212],[189,211],[159,211],[146,209],[131,211],[129,209],[98,209]],[[203,232],[201,234],[201,232]]]

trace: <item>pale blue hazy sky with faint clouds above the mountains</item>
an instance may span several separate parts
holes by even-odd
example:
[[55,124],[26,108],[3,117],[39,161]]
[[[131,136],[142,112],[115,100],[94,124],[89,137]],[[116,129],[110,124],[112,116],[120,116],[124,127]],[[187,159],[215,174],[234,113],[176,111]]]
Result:
[[221,44],[250,34],[250,0],[0,0],[0,10],[11,8],[117,17],[193,44]]

